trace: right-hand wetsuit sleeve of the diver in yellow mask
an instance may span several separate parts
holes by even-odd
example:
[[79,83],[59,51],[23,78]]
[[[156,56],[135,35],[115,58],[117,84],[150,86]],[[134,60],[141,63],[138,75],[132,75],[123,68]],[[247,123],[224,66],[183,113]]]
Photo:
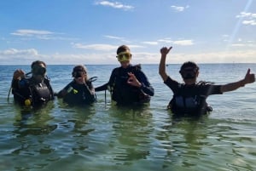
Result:
[[148,82],[148,77],[146,77],[143,71],[138,72],[137,79],[140,83],[142,83],[141,89],[143,90],[143,92],[150,96],[154,96],[154,88]]

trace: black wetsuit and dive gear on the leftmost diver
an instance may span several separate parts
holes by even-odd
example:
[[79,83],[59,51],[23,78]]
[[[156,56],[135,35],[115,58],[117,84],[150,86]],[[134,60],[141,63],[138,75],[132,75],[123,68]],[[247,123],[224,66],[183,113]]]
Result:
[[26,105],[25,101],[30,100],[33,107],[46,104],[49,100],[54,100],[53,89],[49,84],[49,79],[44,78],[40,83],[33,77],[22,78],[12,81],[12,94],[15,102]]

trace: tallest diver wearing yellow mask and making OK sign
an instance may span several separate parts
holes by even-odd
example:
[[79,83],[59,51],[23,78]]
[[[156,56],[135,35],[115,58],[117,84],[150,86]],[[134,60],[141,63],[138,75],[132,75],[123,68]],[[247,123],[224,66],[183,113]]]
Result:
[[95,88],[97,91],[109,89],[112,100],[117,105],[140,105],[148,103],[154,95],[154,88],[141,70],[141,66],[131,65],[131,51],[126,45],[117,49],[117,59],[121,66],[114,68],[108,83]]

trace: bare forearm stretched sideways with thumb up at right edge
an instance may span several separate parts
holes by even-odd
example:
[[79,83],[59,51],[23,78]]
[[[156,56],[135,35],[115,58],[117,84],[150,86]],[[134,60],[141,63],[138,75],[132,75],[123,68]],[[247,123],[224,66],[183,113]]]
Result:
[[247,74],[242,80],[235,82],[235,83],[227,83],[225,85],[222,85],[220,88],[220,91],[222,93],[228,92],[228,91],[233,91],[237,88],[241,88],[241,87],[245,86],[245,84],[247,84],[247,83],[254,83],[255,76],[253,73],[250,73],[250,71],[251,71],[250,69],[247,70]]

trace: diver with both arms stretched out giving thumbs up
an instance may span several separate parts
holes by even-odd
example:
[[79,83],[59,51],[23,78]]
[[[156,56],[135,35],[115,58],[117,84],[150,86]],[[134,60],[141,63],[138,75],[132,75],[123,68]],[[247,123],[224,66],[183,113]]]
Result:
[[207,114],[212,108],[207,105],[207,97],[212,94],[223,94],[224,92],[233,91],[237,88],[244,87],[247,83],[254,83],[255,76],[247,70],[246,76],[235,83],[227,83],[224,85],[213,85],[207,82],[196,82],[199,75],[199,67],[192,61],[183,63],[179,73],[183,77],[184,83],[177,83],[172,77],[166,73],[166,55],[170,52],[170,48],[160,48],[160,65],[159,74],[164,83],[172,89],[173,97],[168,108],[177,116],[198,116]]

